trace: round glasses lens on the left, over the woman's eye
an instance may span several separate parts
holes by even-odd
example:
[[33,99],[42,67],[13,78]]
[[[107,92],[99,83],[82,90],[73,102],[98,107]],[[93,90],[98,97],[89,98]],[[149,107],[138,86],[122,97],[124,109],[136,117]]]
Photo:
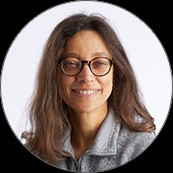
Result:
[[68,57],[61,61],[61,68],[67,75],[76,75],[80,71],[81,63],[77,58]]

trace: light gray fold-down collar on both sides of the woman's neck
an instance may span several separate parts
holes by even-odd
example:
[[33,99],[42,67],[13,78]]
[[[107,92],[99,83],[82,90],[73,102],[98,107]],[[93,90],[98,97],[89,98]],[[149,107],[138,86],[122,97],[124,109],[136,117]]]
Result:
[[[115,141],[117,141],[118,132],[120,130],[120,121],[115,116],[113,110],[109,110],[107,117],[102,123],[92,146],[87,153],[95,155],[111,155],[116,153]],[[74,156],[73,147],[71,145],[71,126],[67,128],[63,138],[63,150]]]

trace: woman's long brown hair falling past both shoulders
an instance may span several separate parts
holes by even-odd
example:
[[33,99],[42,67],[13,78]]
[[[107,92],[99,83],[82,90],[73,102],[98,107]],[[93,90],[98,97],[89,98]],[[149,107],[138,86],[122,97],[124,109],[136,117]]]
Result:
[[[68,39],[82,30],[92,30],[104,39],[114,60],[114,77],[109,105],[123,126],[136,132],[153,132],[154,119],[147,111],[126,52],[108,21],[100,15],[73,14],[61,21],[50,34],[29,104],[31,129],[22,133],[25,146],[48,163],[66,157],[61,142],[68,124],[67,105],[60,97],[58,61]],[[143,121],[136,121],[138,115]]]

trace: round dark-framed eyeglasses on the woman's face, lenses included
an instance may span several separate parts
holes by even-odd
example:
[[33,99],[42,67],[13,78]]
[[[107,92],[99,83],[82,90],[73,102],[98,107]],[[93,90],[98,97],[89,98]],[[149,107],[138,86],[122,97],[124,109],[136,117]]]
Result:
[[78,75],[84,64],[89,66],[89,69],[95,76],[105,76],[111,70],[113,60],[107,57],[96,57],[91,61],[81,61],[76,57],[66,57],[60,60],[61,70],[64,74],[68,76]]

